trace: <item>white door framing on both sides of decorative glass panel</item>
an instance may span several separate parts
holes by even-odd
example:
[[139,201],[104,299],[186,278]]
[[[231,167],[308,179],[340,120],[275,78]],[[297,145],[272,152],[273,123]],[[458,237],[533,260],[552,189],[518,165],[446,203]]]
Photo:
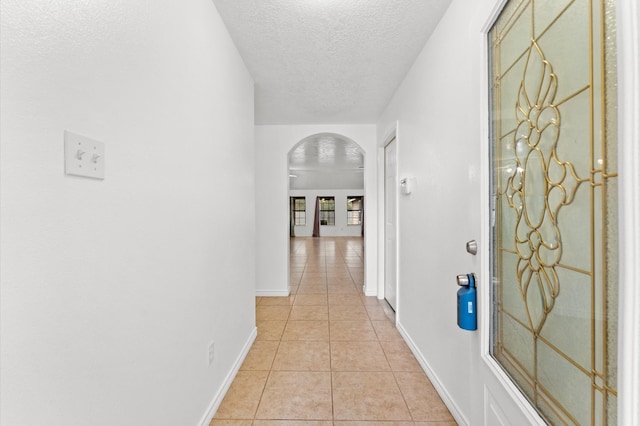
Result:
[[[488,33],[507,0],[489,2],[486,20],[480,28],[481,51],[481,155],[482,155],[482,277],[490,276],[489,256],[489,84]],[[618,318],[618,422],[640,424],[640,6],[637,0],[618,0],[616,4],[618,49],[618,175],[619,203],[619,318]],[[479,288],[480,364],[512,398],[512,402],[531,424],[544,425],[531,404],[490,355],[491,298],[490,286]],[[487,389],[486,378],[480,378]],[[505,407],[506,408],[506,407]],[[485,407],[483,407],[485,410]],[[483,414],[486,420],[487,413]]]

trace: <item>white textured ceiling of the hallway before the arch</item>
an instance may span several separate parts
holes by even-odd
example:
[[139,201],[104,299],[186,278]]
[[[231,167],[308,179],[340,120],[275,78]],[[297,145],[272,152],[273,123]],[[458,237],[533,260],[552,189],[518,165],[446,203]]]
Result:
[[373,123],[451,0],[213,0],[256,124]]

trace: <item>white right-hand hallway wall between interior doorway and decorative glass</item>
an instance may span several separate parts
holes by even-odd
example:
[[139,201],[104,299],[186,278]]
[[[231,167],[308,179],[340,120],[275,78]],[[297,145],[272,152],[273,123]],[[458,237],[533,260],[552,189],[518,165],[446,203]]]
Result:
[[381,146],[398,120],[398,173],[415,177],[412,194],[399,198],[398,326],[461,423],[482,397],[471,391],[478,333],[456,325],[455,276],[480,272],[465,243],[481,237],[483,3],[454,0],[378,122]]

